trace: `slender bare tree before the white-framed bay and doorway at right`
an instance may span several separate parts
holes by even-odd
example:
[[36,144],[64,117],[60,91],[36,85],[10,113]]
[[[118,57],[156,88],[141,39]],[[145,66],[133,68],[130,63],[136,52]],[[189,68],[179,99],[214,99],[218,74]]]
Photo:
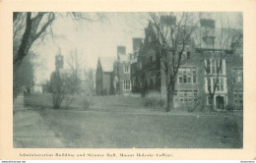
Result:
[[201,27],[195,32],[197,50],[204,62],[205,82],[211,111],[215,110],[214,98],[217,91],[224,91],[225,59],[231,53],[231,43],[235,29],[220,19],[221,27],[216,27],[217,20],[201,20]]

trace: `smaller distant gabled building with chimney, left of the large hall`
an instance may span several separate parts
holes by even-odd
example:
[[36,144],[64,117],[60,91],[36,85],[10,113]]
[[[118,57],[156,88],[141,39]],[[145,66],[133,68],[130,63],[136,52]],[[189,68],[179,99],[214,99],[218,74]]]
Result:
[[99,57],[96,67],[96,94],[130,94],[130,56],[125,46],[117,46],[117,58]]

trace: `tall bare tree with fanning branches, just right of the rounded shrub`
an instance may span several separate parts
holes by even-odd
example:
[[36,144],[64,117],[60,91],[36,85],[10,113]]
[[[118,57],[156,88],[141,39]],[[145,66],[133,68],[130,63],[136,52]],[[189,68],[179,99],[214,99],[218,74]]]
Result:
[[157,30],[161,70],[165,75],[166,111],[173,109],[175,81],[179,67],[186,63],[186,46],[197,27],[199,13],[150,13],[150,23]]

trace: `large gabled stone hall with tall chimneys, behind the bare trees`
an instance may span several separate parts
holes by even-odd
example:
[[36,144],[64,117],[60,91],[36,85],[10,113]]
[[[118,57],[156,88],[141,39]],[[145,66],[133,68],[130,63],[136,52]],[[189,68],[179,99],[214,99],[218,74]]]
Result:
[[[145,28],[137,61],[132,63],[133,92],[166,94],[157,36],[156,28],[150,23]],[[206,97],[209,104],[209,90],[215,90],[213,102],[217,108],[222,109],[227,103],[242,106],[241,41],[242,31],[219,28],[214,20],[202,19],[182,54],[187,61],[176,76],[174,106],[189,105],[199,96]]]

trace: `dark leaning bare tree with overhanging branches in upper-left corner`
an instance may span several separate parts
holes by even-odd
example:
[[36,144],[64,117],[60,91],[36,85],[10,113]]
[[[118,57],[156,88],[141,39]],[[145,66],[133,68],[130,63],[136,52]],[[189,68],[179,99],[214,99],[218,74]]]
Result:
[[[89,13],[15,12],[13,13],[14,72],[17,71],[32,44],[40,36],[50,33],[54,38],[52,23],[56,18],[70,17],[75,21],[99,21],[104,15]],[[47,31],[48,30],[48,31]]]

